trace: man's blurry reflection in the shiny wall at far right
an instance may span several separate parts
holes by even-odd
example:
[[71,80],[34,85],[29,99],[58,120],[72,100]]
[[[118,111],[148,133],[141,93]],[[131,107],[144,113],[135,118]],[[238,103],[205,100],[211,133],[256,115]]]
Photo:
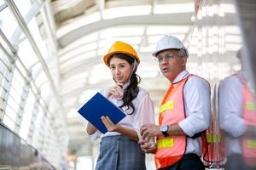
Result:
[[[242,61],[241,50],[237,56]],[[224,169],[256,169],[256,105],[244,71],[220,83],[218,115],[219,125],[225,133],[227,162]]]

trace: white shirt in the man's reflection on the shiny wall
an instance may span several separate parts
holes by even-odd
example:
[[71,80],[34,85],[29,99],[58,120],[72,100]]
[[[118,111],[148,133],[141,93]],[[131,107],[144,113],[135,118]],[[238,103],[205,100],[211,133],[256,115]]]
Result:
[[[242,77],[243,73],[238,72]],[[242,118],[242,83],[234,76],[226,77],[218,88],[218,121],[221,129],[229,135],[225,136],[228,156],[241,154],[241,135],[246,131],[246,123]]]

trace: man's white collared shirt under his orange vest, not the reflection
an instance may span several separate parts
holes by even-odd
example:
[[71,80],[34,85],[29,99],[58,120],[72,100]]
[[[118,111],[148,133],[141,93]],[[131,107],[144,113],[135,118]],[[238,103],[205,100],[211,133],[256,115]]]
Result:
[[[188,71],[180,72],[172,83],[188,77]],[[201,77],[192,76],[183,87],[186,118],[178,125],[189,137],[201,133],[209,127],[211,120],[211,89]],[[187,153],[201,156],[201,138],[187,138]]]

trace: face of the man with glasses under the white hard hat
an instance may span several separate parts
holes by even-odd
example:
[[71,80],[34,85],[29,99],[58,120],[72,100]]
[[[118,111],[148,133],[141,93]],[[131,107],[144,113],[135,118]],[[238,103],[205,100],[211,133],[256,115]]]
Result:
[[177,49],[161,51],[156,58],[159,61],[160,71],[170,82],[173,82],[175,77],[186,69],[187,58],[180,56]]

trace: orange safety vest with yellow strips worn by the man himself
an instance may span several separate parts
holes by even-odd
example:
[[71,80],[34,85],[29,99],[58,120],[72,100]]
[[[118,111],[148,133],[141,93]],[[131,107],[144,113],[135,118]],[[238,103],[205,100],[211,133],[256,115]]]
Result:
[[[189,75],[190,76],[190,75]],[[183,86],[189,77],[173,83],[160,105],[159,125],[177,124],[185,119]],[[158,136],[154,155],[157,169],[172,166],[179,161],[186,150],[186,136]]]

